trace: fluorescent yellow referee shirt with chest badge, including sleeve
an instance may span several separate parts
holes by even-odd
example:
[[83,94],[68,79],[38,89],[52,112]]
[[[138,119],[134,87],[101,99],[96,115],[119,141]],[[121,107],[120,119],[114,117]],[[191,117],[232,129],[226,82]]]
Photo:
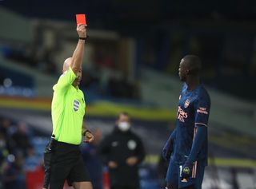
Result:
[[86,103],[82,91],[72,83],[76,75],[70,68],[54,85],[54,96],[51,104],[53,134],[56,140],[68,144],[80,144],[82,140],[82,120]]

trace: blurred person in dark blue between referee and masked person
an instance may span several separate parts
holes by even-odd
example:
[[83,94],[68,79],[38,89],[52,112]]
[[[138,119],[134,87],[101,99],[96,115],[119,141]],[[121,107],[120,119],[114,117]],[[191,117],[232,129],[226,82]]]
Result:
[[94,141],[90,144],[83,143],[80,145],[80,148],[94,189],[102,189],[103,164],[98,156],[98,144],[102,140],[102,131],[99,128],[95,128],[92,134],[94,135]]

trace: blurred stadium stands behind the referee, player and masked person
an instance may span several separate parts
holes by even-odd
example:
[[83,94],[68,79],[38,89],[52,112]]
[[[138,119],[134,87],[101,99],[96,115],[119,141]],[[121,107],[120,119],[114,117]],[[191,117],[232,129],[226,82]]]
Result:
[[86,14],[90,36],[80,86],[84,121],[104,137],[119,112],[130,113],[146,147],[142,189],[164,183],[160,154],[174,129],[186,54],[201,57],[212,101],[202,188],[256,188],[253,0],[0,1],[0,188],[42,188],[52,86],[78,41],[75,14]]

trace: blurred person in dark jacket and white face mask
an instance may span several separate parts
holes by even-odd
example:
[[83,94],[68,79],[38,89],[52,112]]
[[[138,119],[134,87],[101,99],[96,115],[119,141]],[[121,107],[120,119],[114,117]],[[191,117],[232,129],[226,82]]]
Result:
[[98,148],[109,168],[111,189],[138,189],[138,164],[145,157],[142,140],[130,129],[130,116],[122,112],[116,126]]

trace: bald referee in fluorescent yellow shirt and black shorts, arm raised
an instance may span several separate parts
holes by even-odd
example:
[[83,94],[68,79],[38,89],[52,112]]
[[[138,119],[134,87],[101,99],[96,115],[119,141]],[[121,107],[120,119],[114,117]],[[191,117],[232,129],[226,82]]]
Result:
[[92,189],[90,177],[79,151],[82,135],[84,142],[94,136],[82,124],[86,103],[78,88],[82,79],[82,60],[86,41],[86,26],[77,26],[78,45],[73,56],[63,64],[63,73],[54,85],[51,104],[53,133],[44,152],[45,180],[43,188],[62,189],[67,180],[75,189]]

